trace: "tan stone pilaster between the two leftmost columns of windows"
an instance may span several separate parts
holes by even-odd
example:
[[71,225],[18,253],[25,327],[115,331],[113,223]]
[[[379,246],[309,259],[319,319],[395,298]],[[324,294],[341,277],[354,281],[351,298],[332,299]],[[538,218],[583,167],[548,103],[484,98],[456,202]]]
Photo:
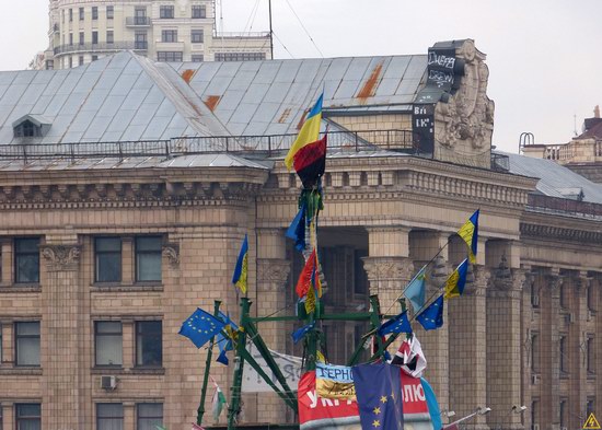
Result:
[[79,410],[86,400],[79,358],[80,350],[90,341],[79,315],[83,301],[79,284],[81,247],[74,235],[47,236],[40,251],[46,263],[42,287],[42,303],[46,304],[42,310],[40,332],[42,421],[48,430],[79,430],[85,425]]

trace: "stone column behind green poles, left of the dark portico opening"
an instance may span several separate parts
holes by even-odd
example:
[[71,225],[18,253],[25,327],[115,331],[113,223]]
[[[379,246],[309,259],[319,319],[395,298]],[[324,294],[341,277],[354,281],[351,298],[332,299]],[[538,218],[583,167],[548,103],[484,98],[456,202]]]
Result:
[[[286,259],[285,232],[280,229],[259,229],[257,235],[257,315],[270,315],[286,305],[290,262]],[[289,311],[288,314],[294,312]],[[262,338],[277,352],[286,352],[289,325],[258,323]],[[257,398],[257,422],[282,422],[289,407],[276,393],[261,393]],[[292,418],[290,415],[289,418]]]

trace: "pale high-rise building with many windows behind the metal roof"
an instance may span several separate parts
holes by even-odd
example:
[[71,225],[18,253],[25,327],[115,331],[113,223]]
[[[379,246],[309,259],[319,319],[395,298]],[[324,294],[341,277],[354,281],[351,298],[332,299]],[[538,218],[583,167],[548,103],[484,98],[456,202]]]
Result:
[[268,32],[217,32],[215,0],[50,0],[49,24],[35,69],[68,69],[120,50],[172,62],[270,58]]

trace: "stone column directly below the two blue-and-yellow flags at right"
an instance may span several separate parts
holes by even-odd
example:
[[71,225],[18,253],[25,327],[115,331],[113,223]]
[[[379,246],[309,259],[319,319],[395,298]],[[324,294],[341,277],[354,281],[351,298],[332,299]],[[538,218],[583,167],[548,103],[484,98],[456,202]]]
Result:
[[[456,417],[465,417],[474,412],[478,406],[488,406],[485,297],[490,270],[479,265],[470,267],[464,294],[447,302],[450,409],[455,411]],[[465,426],[486,429],[486,416],[477,415]]]

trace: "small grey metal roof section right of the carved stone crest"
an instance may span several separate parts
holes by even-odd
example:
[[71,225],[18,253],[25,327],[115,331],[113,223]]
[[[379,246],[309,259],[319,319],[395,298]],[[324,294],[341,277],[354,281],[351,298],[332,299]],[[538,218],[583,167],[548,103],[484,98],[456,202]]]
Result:
[[501,152],[510,159],[510,173],[539,177],[537,190],[546,196],[567,198],[567,189],[581,189],[583,201],[602,204],[602,185],[551,160]]

